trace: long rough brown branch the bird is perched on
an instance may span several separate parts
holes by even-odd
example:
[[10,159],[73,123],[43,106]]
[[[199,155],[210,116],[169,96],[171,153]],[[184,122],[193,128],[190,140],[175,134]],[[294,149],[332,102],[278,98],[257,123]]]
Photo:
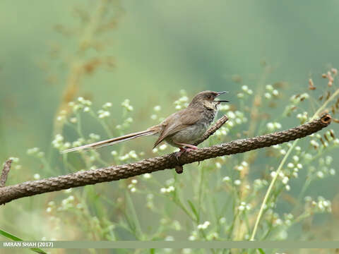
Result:
[[203,147],[198,150],[191,150],[184,153],[177,159],[174,153],[161,157],[142,159],[139,162],[111,166],[102,169],[90,169],[88,171],[78,171],[64,176],[51,177],[37,181],[27,181],[13,186],[0,188],[0,204],[5,204],[11,200],[28,197],[41,193],[60,191],[67,188],[85,186],[88,184],[102,183],[106,181],[117,181],[131,176],[138,176],[145,173],[152,173],[164,169],[173,169],[178,165],[201,162],[223,155],[233,155],[240,152],[247,152],[262,147],[269,147],[285,143],[297,138],[304,138],[311,133],[320,131],[331,123],[331,116],[325,114],[320,119],[316,119],[301,126],[290,128],[286,131],[279,131],[254,138],[234,140],[212,147]]

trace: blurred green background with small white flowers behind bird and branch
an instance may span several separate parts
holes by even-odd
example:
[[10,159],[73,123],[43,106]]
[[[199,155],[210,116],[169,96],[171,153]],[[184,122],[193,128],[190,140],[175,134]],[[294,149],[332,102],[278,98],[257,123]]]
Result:
[[[201,90],[230,90],[231,101],[222,109],[231,121],[204,145],[311,119],[338,91],[337,9],[337,1],[1,1],[0,159],[15,157],[7,185],[172,152],[152,151],[144,138],[59,155],[141,131]],[[323,109],[336,114],[337,97]],[[30,240],[249,239],[276,176],[256,238],[335,240],[335,133],[332,123],[297,145],[211,159],[182,175],[15,200],[1,207],[11,218],[1,229]]]

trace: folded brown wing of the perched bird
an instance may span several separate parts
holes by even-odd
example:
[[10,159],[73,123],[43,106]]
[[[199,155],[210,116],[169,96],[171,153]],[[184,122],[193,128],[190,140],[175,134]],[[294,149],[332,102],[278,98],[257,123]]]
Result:
[[163,121],[165,127],[162,129],[159,138],[157,138],[154,147],[159,145],[162,140],[169,137],[170,135],[173,135],[178,131],[182,131],[184,128],[193,125],[199,119],[201,119],[201,112],[198,111],[198,109],[184,109],[172,114],[167,119],[165,119],[165,121]]

